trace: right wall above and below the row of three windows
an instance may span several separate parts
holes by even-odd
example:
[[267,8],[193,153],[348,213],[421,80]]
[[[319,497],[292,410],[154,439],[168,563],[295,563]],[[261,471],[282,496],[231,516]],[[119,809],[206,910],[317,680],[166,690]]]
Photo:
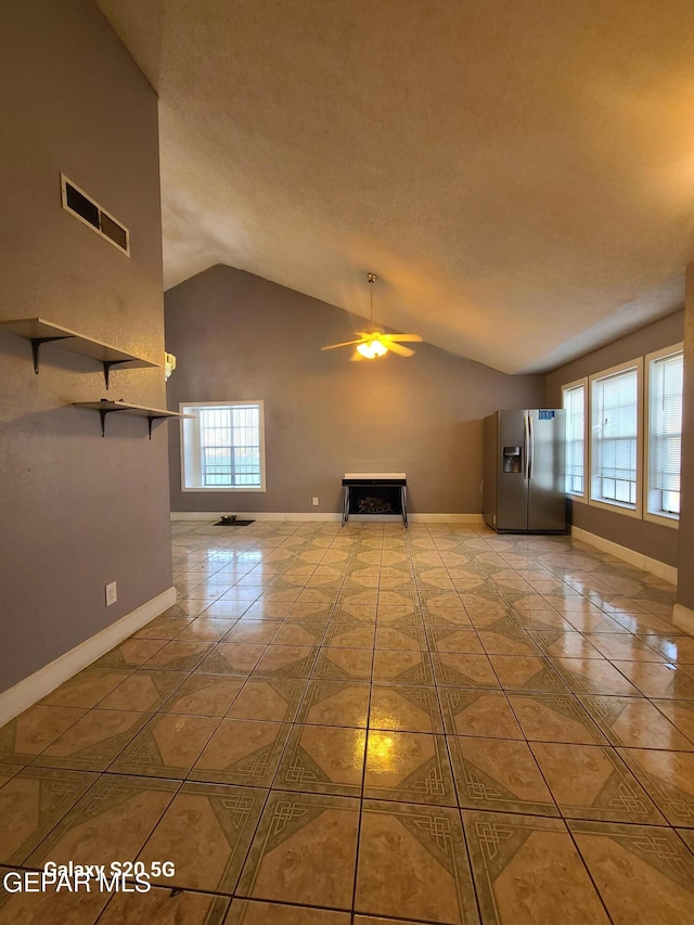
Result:
[[[678,311],[550,373],[547,376],[548,404],[561,407],[562,385],[677,344],[682,339],[683,318],[683,312]],[[684,493],[686,492],[683,489]],[[593,508],[579,501],[571,503],[575,526],[651,558],[677,566],[677,529]]]

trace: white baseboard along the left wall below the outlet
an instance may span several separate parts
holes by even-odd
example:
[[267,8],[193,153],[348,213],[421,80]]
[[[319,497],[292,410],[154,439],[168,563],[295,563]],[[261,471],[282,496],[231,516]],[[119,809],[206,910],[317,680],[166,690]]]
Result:
[[0,694],[0,725],[14,719],[41,697],[50,694],[73,675],[87,668],[92,661],[101,658],[114,645],[142,629],[145,624],[158,617],[167,607],[176,603],[176,588],[168,588],[151,601],[142,604],[130,614],[105,627],[100,632],[80,642],[54,661],[39,668],[34,675],[20,681],[8,691]]

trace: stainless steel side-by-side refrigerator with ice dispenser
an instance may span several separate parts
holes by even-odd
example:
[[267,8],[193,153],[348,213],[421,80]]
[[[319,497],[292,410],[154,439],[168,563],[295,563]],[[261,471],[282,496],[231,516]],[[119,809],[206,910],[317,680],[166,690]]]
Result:
[[485,523],[494,530],[562,532],[566,412],[497,411],[485,417]]

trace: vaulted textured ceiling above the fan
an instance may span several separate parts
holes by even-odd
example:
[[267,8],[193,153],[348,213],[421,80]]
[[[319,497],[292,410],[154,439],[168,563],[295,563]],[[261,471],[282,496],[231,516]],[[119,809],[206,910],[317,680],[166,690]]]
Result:
[[166,287],[221,262],[368,314],[373,270],[377,323],[505,372],[681,306],[691,0],[99,7],[159,93]]

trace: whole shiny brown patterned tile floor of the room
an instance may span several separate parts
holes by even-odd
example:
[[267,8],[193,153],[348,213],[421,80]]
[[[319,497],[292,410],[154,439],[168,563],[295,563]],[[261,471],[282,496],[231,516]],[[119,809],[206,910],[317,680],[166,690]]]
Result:
[[[694,639],[567,538],[174,526],[180,600],[0,729],[0,923],[694,921]],[[174,887],[174,890],[171,889]]]

